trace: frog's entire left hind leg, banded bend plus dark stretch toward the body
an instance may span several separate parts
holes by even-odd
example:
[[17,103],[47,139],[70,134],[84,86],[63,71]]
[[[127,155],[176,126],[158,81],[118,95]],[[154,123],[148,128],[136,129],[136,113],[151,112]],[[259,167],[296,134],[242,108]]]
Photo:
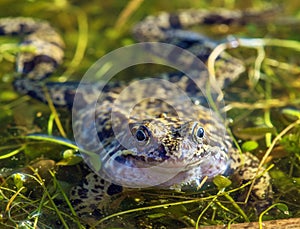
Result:
[[42,83],[61,64],[64,42],[61,36],[44,21],[32,18],[0,19],[0,36],[21,37],[16,60],[15,89],[42,102],[47,102],[45,89],[56,106],[71,106],[77,84]]

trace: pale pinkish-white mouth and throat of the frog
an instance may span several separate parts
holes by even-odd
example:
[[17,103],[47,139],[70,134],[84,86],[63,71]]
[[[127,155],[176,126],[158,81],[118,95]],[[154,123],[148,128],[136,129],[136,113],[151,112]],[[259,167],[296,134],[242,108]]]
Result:
[[112,183],[130,187],[146,188],[160,186],[171,188],[223,173],[228,157],[225,152],[208,155],[192,155],[175,158],[167,154],[137,155],[126,150],[107,157],[98,174]]

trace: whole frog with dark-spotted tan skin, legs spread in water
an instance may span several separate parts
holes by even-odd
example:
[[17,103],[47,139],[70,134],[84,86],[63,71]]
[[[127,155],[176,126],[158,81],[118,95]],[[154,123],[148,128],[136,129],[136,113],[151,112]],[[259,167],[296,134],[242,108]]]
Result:
[[[183,30],[192,25],[213,23],[245,23],[249,18],[256,18],[255,13],[218,14],[207,11],[182,11],[178,14],[161,14],[151,16],[140,22],[134,29],[134,34],[140,41],[158,40],[178,45],[197,55],[204,62],[212,49],[217,45],[208,38],[194,32]],[[122,192],[122,182],[129,186],[151,186],[155,179],[163,174],[159,169],[181,168],[171,179],[155,186],[164,189],[195,188],[204,177],[211,180],[218,174],[232,173],[238,183],[252,180],[257,174],[259,160],[250,153],[240,154],[232,146],[223,121],[211,109],[202,104],[197,86],[182,73],[158,76],[176,83],[191,99],[182,100],[179,95],[172,94],[168,86],[147,84],[136,90],[125,91],[120,99],[118,96],[125,88],[123,83],[106,85],[102,100],[96,106],[96,124],[90,114],[97,91],[102,84],[86,85],[76,91],[77,83],[44,83],[40,79],[50,75],[62,62],[64,44],[59,34],[46,22],[31,18],[0,19],[1,35],[24,35],[21,46],[34,46],[35,52],[20,53],[18,58],[18,73],[23,77],[14,82],[16,90],[28,94],[43,102],[47,102],[44,94],[46,87],[56,106],[72,108],[75,93],[81,96],[81,107],[75,113],[75,134],[83,142],[89,142],[89,147],[101,156],[105,171],[101,177],[86,168],[88,174],[81,184],[71,191],[70,198],[79,215],[97,215],[107,208],[112,196]],[[226,82],[234,80],[243,70],[241,61],[222,54],[217,62],[217,81],[221,87]],[[139,95],[147,90],[155,95],[164,95],[161,100],[139,101]],[[171,94],[170,94],[171,93]],[[174,110],[164,99],[173,98],[180,104]],[[121,100],[122,106],[115,106],[116,118],[112,123],[110,115],[112,104]],[[126,115],[126,104],[136,104],[130,116]],[[125,105],[124,105],[125,104]],[[191,105],[192,104],[192,105]],[[113,125],[128,124],[129,132],[120,129],[114,134]],[[84,124],[84,125],[83,125]],[[91,138],[91,129],[96,128],[97,136],[103,147],[99,147],[97,138]],[[120,142],[129,142],[124,147]],[[115,163],[126,164],[129,169],[116,167]],[[242,163],[243,162],[243,163]],[[156,166],[158,170],[134,170],[140,167]],[[260,168],[259,173],[264,169]],[[135,172],[132,172],[135,171]],[[139,171],[136,173],[136,171]],[[116,183],[107,181],[114,177]],[[155,177],[154,176],[154,177]],[[258,206],[265,206],[266,199],[271,196],[270,177],[264,173],[257,178],[252,190],[252,197]],[[262,203],[262,204],[260,204]]]

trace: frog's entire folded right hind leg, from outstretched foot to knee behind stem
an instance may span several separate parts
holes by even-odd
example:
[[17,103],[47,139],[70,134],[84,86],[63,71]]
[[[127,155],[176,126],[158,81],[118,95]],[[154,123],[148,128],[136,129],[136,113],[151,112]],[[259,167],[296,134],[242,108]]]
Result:
[[[133,29],[135,38],[140,41],[160,41],[173,44],[190,51],[201,61],[206,63],[211,52],[220,42],[187,31],[190,27],[211,25],[244,25],[247,23],[261,23],[274,17],[278,8],[255,10],[225,10],[220,9],[211,12],[203,9],[182,10],[176,13],[160,13],[156,16],[148,16],[139,22]],[[224,41],[222,41],[224,43]],[[236,45],[237,42],[234,42]],[[160,52],[160,51],[159,51]],[[157,54],[157,52],[155,52]],[[159,53],[158,53],[159,55]],[[222,52],[215,62],[216,79],[220,87],[234,81],[244,71],[243,63]]]

